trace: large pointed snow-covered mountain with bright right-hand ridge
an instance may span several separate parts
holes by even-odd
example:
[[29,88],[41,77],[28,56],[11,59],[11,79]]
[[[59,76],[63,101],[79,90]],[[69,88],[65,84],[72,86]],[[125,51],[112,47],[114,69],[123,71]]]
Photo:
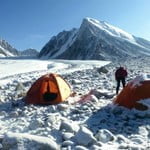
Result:
[[85,18],[79,29],[60,32],[43,47],[40,58],[112,60],[150,55],[150,41],[104,21]]

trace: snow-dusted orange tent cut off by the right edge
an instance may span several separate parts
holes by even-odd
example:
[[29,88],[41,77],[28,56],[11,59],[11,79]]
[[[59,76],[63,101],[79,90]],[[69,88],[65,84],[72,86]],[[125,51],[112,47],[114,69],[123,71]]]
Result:
[[114,103],[129,109],[146,110],[147,106],[138,101],[150,98],[150,80],[140,81],[135,84],[131,81],[115,98]]

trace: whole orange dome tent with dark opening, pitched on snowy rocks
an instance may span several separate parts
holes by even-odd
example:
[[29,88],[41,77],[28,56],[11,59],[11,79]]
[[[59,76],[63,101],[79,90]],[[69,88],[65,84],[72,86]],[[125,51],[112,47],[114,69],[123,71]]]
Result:
[[71,94],[69,84],[57,74],[40,77],[29,89],[25,102],[28,104],[58,104]]

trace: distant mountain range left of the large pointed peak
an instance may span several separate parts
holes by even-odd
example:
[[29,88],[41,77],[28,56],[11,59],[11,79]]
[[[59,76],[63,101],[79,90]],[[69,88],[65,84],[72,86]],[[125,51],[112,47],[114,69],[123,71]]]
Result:
[[37,57],[39,52],[35,49],[26,49],[19,51],[13,48],[7,41],[0,40],[0,57],[17,57],[17,56],[34,56]]

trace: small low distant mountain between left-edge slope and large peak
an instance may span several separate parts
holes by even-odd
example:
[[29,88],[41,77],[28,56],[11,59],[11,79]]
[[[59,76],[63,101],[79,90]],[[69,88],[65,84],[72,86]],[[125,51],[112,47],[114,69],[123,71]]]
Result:
[[38,56],[39,52],[36,49],[33,48],[29,48],[23,51],[20,51],[20,55],[21,56],[32,56],[32,57],[36,57]]

